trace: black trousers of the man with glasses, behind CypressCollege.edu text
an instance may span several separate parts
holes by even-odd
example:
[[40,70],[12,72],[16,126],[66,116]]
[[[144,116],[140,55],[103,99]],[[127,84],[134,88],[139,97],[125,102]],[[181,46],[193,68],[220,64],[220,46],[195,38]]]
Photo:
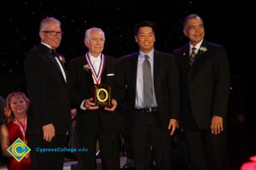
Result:
[[34,170],[62,170],[66,139],[66,134],[55,135],[50,142],[46,142],[42,135],[28,135],[28,145],[32,150],[32,168]]

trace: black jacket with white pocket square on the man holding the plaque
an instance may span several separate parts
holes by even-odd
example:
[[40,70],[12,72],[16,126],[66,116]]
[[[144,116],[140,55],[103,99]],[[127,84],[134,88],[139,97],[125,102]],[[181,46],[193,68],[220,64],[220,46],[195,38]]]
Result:
[[[106,60],[102,72],[101,83],[109,84],[111,86],[112,98],[117,101],[119,106],[125,96],[123,71],[118,59],[114,59],[108,55],[105,55],[105,57]],[[73,106],[77,108],[78,114],[85,116],[86,114],[91,114],[91,111],[81,110],[80,105],[84,99],[90,99],[92,97],[94,82],[91,72],[89,70],[84,71],[84,65],[87,65],[84,55],[73,59],[68,63],[68,71],[70,73],[70,98]],[[105,114],[100,114],[102,130],[108,132],[116,132],[119,130],[118,125],[120,123],[117,109],[111,114],[103,109],[100,110],[102,110],[103,113],[105,112]]]

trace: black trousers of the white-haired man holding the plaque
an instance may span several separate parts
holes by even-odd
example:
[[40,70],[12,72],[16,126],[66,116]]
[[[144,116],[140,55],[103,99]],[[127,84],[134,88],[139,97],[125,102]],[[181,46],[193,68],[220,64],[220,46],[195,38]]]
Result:
[[76,124],[79,170],[96,169],[96,140],[99,140],[103,170],[119,170],[119,131],[107,132],[100,126],[99,113],[79,115]]

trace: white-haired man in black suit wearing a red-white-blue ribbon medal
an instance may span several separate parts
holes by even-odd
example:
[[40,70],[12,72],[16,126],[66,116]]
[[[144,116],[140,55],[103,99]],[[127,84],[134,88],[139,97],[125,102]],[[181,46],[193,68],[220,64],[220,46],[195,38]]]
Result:
[[[79,153],[79,169],[96,168],[96,140],[99,140],[102,166],[119,169],[118,106],[125,96],[125,84],[118,59],[102,54],[105,34],[100,28],[85,31],[84,44],[88,53],[68,63],[72,104],[77,108],[79,147],[88,152]],[[111,87],[112,105],[99,106],[93,101],[92,88],[95,84]]]

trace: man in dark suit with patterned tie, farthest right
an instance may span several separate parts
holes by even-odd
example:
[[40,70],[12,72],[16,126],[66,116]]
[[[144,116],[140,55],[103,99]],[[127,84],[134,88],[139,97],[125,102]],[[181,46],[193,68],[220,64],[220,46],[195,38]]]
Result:
[[223,46],[204,40],[201,17],[183,22],[189,44],[174,51],[181,74],[181,124],[191,169],[227,169],[226,129],[230,70]]

